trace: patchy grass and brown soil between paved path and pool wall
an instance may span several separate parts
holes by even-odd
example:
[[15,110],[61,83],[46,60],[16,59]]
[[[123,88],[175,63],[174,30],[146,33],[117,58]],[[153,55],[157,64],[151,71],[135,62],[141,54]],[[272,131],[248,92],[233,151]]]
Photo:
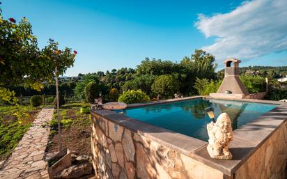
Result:
[[[69,148],[79,155],[91,155],[90,114],[80,113],[80,108],[83,106],[89,106],[89,104],[70,103],[61,107],[61,141],[63,148]],[[56,110],[50,125],[51,132],[47,152],[54,153],[59,150]]]

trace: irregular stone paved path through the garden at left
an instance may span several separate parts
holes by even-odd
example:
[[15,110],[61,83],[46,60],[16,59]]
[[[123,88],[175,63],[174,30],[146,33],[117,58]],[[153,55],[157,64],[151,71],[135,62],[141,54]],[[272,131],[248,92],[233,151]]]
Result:
[[49,178],[44,153],[49,137],[47,122],[54,109],[42,109],[24,134],[8,161],[0,170],[0,178]]

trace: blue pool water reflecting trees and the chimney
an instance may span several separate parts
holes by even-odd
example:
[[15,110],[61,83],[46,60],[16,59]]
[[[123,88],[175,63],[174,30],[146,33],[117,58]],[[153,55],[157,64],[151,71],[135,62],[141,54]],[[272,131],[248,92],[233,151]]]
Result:
[[226,112],[232,121],[233,130],[277,107],[276,104],[236,102],[230,100],[184,100],[167,104],[126,109],[125,116],[141,120],[151,125],[163,127],[196,139],[208,141],[206,124],[210,118],[205,107],[213,107],[215,116]]

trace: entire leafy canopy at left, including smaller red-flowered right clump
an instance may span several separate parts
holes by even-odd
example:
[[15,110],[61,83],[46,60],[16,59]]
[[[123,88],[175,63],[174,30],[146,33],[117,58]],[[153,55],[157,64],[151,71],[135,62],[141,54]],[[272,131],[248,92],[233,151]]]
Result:
[[49,45],[40,50],[26,17],[19,23],[12,17],[4,20],[1,8],[0,44],[0,98],[6,101],[15,95],[8,87],[24,85],[40,91],[43,81],[54,78],[55,67],[57,75],[63,75],[77,54],[68,47],[63,51],[58,49],[58,42],[51,39]]

